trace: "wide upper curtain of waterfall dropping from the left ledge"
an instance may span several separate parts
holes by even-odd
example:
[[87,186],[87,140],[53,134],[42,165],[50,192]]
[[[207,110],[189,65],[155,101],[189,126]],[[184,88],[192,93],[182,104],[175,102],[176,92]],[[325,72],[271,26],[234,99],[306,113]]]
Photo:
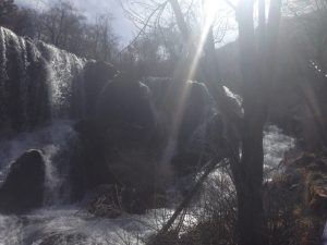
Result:
[[1,128],[83,117],[85,59],[0,27]]

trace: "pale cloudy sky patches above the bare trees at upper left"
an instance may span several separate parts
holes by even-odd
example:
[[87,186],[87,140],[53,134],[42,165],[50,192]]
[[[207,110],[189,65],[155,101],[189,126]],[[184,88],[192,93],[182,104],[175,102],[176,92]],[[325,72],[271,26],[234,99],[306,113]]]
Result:
[[[46,10],[58,0],[15,0],[20,7],[29,7],[37,10]],[[124,16],[119,0],[70,0],[84,15],[94,21],[97,14],[111,13],[113,15],[112,27],[121,37],[122,45],[128,44],[134,36],[133,24]]]

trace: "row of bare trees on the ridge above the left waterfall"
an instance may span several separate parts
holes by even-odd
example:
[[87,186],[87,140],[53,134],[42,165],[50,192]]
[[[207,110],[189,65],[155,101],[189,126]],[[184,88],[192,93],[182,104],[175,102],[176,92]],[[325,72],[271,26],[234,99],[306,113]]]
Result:
[[118,50],[119,39],[112,30],[110,13],[99,14],[93,23],[66,1],[56,2],[43,13],[19,9],[12,22],[19,35],[88,59],[111,62]]

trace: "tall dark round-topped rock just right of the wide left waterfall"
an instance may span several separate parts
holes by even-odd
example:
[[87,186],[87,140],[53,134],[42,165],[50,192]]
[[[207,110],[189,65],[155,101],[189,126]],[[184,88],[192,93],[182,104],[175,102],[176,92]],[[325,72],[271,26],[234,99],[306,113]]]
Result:
[[[130,156],[131,151],[149,154],[157,149],[154,121],[146,86],[126,74],[108,82],[99,95],[94,117],[75,125],[83,159],[82,164],[76,164],[72,171],[75,189],[83,193],[102,184],[119,184],[121,187],[136,184],[136,181],[125,182],[125,176],[131,176],[128,170],[134,167],[132,161],[122,158]],[[119,170],[116,169],[118,162]],[[135,159],[134,164],[137,166]],[[121,169],[126,171],[122,173]],[[80,186],[84,186],[84,191],[78,189]]]

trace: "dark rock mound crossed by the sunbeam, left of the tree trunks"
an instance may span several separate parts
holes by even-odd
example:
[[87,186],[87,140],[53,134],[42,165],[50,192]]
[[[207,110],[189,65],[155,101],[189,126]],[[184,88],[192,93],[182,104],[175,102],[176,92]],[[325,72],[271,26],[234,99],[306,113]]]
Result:
[[207,120],[215,113],[206,86],[197,82],[173,82],[157,77],[145,78],[144,83],[150,88],[161,140],[166,144],[171,139],[177,143],[171,159],[177,175],[192,173],[205,161]]

